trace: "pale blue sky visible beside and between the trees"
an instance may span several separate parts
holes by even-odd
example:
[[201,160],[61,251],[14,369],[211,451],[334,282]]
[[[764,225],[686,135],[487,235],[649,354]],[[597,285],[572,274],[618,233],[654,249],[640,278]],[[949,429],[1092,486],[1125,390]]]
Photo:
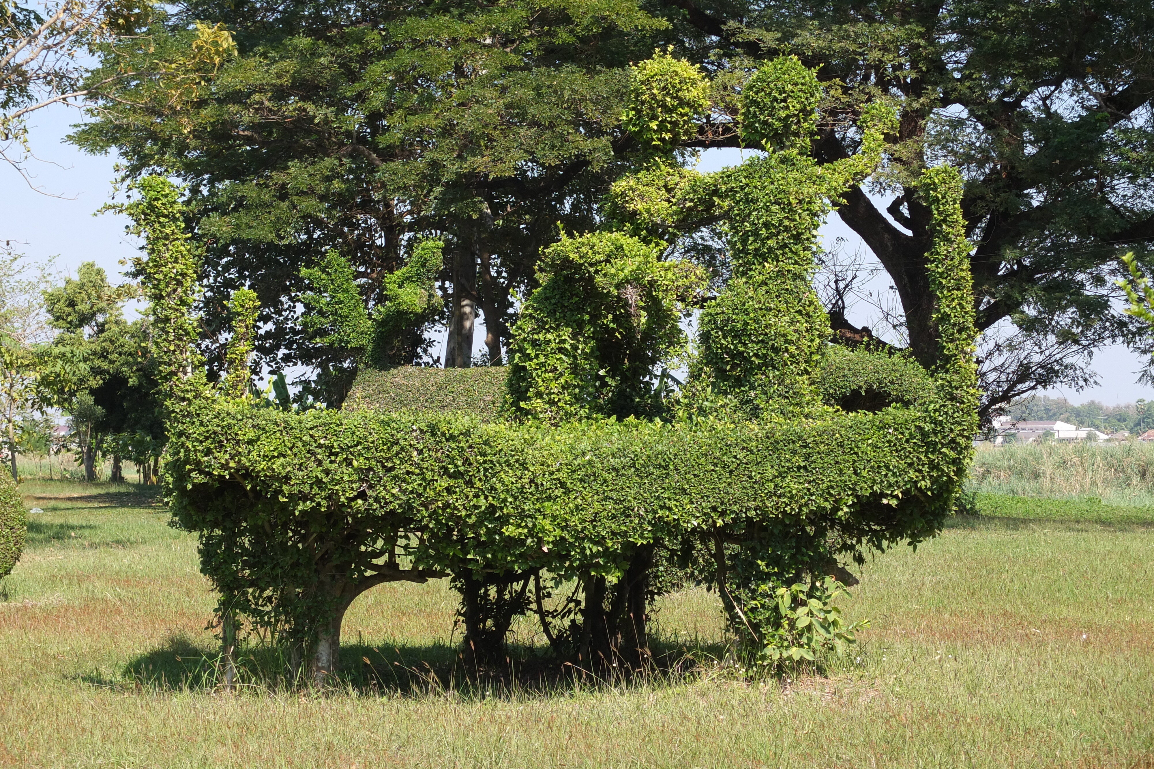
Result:
[[[110,277],[119,275],[123,269],[121,262],[135,253],[135,239],[125,234],[122,216],[93,216],[113,193],[115,158],[91,157],[63,142],[69,125],[80,119],[75,110],[53,107],[30,117],[32,147],[39,159],[28,167],[32,185],[42,192],[33,191],[14,170],[0,164],[0,240],[10,240],[15,251],[31,259],[55,256],[57,268],[63,272],[75,271],[81,262],[95,261]],[[699,167],[711,171],[737,159],[737,150],[713,151],[703,157]],[[842,238],[842,248],[848,253],[869,254],[861,239],[837,216],[830,217],[822,237],[826,244]],[[884,292],[886,281],[876,278],[869,288]],[[877,327],[865,306],[852,308],[849,315],[859,326]],[[484,330],[475,335],[478,352],[484,349]],[[1097,387],[1081,393],[1054,390],[1049,394],[1065,396],[1074,403],[1149,400],[1154,397],[1154,388],[1137,383],[1142,363],[1139,356],[1123,346],[1107,348],[1094,358],[1100,380]]]

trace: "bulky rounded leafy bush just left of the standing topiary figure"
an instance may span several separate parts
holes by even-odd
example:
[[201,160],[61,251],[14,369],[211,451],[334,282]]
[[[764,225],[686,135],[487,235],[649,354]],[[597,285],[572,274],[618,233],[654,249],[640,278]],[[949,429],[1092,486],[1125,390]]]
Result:
[[679,321],[705,282],[661,248],[616,232],[562,238],[538,269],[509,349],[509,402],[550,423],[651,411],[654,367],[685,345]]

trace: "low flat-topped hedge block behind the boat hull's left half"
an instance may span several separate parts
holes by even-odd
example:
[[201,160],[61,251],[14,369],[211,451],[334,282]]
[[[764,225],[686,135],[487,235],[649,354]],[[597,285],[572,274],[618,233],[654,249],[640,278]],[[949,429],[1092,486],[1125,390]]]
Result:
[[502,366],[362,368],[344,408],[351,411],[457,411],[497,419],[505,395]]

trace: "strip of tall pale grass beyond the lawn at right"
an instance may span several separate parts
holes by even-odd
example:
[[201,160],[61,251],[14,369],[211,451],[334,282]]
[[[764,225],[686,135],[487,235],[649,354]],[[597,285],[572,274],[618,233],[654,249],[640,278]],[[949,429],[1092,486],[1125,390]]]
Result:
[[1154,443],[982,446],[974,457],[971,490],[1154,506]]

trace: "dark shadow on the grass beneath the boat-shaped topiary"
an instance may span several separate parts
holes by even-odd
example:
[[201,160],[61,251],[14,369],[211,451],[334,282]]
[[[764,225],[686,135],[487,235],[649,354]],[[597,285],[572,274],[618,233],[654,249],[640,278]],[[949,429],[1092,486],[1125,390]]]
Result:
[[[452,695],[471,697],[567,696],[575,689],[669,684],[700,675],[724,656],[722,647],[655,643],[650,669],[623,677],[592,675],[559,662],[548,647],[510,645],[497,671],[470,670],[459,647],[448,644],[342,644],[340,671],[330,692],[365,696]],[[83,675],[85,684],[136,692],[212,692],[223,681],[219,649],[173,635],[128,663],[118,679]],[[305,688],[285,652],[250,647],[238,655],[238,686],[261,693]]]

